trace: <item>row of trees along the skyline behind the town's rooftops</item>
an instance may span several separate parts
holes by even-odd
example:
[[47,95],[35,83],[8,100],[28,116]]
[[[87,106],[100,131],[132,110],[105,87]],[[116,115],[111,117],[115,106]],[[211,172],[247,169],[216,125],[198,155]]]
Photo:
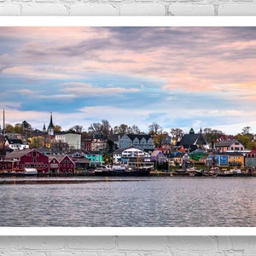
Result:
[[[6,133],[18,133],[23,136],[30,136],[34,129],[32,125],[29,124],[26,120],[15,125],[7,124],[5,125]],[[60,125],[55,125],[55,132],[62,131]],[[137,125],[116,125],[112,127],[107,119],[102,119],[101,122],[93,123],[88,127],[88,131],[83,131],[82,125],[74,125],[70,127],[67,131],[78,132],[82,134],[83,137],[102,135],[104,137],[110,137],[113,134],[148,134],[154,137],[154,144],[156,147],[160,147],[163,144],[166,144],[168,138],[172,138],[172,142],[177,143],[184,135],[184,131],[180,128],[172,128],[171,131],[167,132],[162,129],[162,127],[153,122],[148,125],[148,132],[141,131]],[[220,140],[226,139],[237,139],[242,143],[245,148],[252,149],[256,147],[256,142],[254,140],[253,133],[251,132],[251,127],[246,126],[242,128],[241,133],[238,133],[236,136],[224,134],[223,131],[214,130],[212,128],[204,128],[202,131],[204,137],[207,140],[207,143],[213,145]]]

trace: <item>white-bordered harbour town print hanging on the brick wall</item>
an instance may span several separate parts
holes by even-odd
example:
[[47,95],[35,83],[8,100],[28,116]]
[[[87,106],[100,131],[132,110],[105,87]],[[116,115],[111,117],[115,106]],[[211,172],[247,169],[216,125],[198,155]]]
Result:
[[255,233],[254,17],[0,20],[2,233]]

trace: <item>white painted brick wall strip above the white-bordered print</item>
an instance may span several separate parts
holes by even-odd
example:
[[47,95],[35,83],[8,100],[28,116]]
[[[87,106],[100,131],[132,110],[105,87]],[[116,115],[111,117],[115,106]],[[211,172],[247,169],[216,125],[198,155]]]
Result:
[[256,0],[0,0],[0,15],[256,15]]

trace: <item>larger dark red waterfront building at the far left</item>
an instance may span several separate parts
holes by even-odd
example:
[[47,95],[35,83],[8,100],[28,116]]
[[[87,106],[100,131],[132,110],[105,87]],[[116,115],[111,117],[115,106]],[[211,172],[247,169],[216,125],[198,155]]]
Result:
[[23,149],[7,154],[0,162],[2,171],[23,172],[26,168],[35,168],[38,173],[48,173],[49,157],[37,149]]

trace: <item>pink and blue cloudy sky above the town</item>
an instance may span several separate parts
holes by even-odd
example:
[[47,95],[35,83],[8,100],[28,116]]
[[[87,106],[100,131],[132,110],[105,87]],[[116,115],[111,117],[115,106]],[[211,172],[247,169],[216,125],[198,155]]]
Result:
[[256,133],[255,67],[256,27],[2,26],[0,108],[40,130],[52,112],[63,130]]

